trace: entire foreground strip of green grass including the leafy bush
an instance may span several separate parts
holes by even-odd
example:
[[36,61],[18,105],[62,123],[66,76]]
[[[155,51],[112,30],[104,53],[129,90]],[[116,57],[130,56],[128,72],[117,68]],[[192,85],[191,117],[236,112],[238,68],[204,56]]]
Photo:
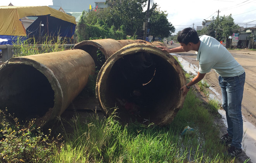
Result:
[[[190,90],[173,122],[162,127],[137,122],[123,124],[115,112],[102,118],[96,113],[86,118],[77,114],[69,121],[59,119],[63,135],[57,139],[59,143],[52,138],[54,134],[43,134],[33,125],[15,128],[17,124],[3,122],[1,156],[9,161],[2,162],[233,163],[234,159],[223,155],[226,149],[219,142],[219,128],[213,121],[216,112],[212,110],[218,108],[215,104],[202,103]],[[194,131],[182,136],[186,126]],[[16,136],[11,139],[13,135]]]

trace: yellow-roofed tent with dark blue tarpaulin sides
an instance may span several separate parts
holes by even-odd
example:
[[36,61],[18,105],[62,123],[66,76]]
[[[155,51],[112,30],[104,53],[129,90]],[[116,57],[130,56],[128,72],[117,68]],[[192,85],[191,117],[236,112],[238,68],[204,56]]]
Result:
[[[36,16],[38,19],[25,29],[21,18],[27,16]],[[0,39],[27,35],[72,37],[76,26],[75,17],[48,6],[1,6],[0,22]]]

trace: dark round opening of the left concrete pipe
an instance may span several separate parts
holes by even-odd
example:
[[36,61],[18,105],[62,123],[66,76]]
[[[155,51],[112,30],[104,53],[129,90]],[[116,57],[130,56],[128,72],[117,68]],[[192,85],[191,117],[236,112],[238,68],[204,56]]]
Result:
[[9,65],[0,76],[0,109],[7,107],[19,121],[42,117],[54,107],[49,81],[33,66]]

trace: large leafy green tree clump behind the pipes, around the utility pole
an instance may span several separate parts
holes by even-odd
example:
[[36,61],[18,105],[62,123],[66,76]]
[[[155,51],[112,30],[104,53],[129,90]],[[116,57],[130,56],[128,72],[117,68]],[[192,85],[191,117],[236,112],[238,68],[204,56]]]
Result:
[[[108,0],[111,7],[98,9],[96,12],[83,12],[77,25],[78,41],[92,38],[124,39],[126,35],[142,36],[147,0]],[[167,14],[157,9],[154,4],[150,9],[150,32],[154,36],[168,37],[175,31],[168,22]]]

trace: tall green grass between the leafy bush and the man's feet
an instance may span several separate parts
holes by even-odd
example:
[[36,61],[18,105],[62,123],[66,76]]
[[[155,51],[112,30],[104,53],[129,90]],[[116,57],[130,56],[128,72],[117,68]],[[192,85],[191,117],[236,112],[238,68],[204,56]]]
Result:
[[[226,149],[219,142],[219,129],[213,121],[216,112],[209,110],[219,106],[213,104],[204,105],[190,90],[183,109],[164,127],[121,124],[115,113],[108,118],[99,118],[95,113],[86,121],[80,115],[71,121],[59,119],[66,143],[61,150],[56,148],[52,162],[234,162],[223,154]],[[186,126],[194,132],[181,136]]]

